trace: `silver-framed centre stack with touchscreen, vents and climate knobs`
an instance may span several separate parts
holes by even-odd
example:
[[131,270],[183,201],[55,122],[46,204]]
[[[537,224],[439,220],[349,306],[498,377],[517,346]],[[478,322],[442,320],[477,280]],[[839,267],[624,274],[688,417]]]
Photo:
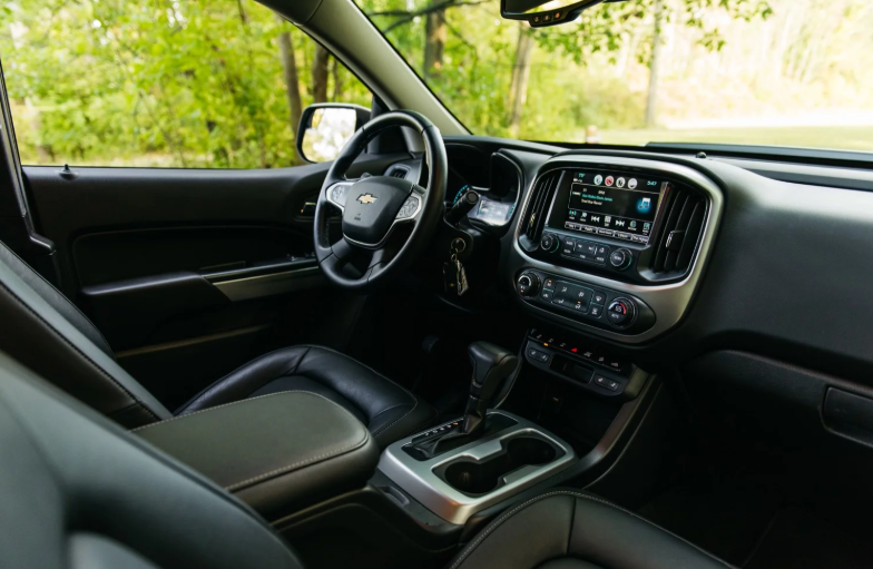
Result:
[[526,196],[510,257],[518,298],[576,331],[645,342],[681,318],[712,249],[718,187],[658,160],[562,155]]

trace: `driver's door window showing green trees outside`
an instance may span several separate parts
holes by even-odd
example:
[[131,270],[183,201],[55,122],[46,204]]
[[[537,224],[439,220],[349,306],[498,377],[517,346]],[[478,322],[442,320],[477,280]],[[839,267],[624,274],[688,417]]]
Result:
[[371,102],[254,0],[9,2],[0,57],[24,165],[291,166],[306,105]]

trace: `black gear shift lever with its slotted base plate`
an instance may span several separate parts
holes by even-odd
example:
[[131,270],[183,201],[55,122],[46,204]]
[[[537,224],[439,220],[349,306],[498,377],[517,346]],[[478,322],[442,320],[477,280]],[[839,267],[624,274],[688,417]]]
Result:
[[473,364],[473,379],[470,382],[470,396],[467,400],[463,422],[457,431],[416,444],[415,450],[421,460],[457,449],[482,436],[485,432],[488,405],[492,403],[503,382],[518,365],[518,357],[511,352],[488,342],[473,342],[470,344],[469,353],[470,362]]

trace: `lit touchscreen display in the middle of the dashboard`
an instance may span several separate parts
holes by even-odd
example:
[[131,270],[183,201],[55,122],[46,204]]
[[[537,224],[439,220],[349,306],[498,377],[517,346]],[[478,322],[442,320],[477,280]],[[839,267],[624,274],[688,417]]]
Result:
[[569,190],[558,192],[548,224],[552,228],[648,243],[663,180],[610,171],[576,171]]

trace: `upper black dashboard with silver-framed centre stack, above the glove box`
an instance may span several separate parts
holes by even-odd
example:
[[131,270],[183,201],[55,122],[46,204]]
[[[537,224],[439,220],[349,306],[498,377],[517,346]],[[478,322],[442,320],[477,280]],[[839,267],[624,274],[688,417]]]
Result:
[[[512,204],[506,225],[471,219],[468,233],[496,244],[462,259],[469,273],[480,269],[473,292],[452,302],[462,310],[481,301],[504,311],[506,297],[529,326],[585,337],[649,370],[739,350],[873,376],[873,192],[856,161],[474,136],[445,144],[447,205],[465,184]],[[444,257],[449,247],[436,248]],[[851,310],[833,308],[840,300]],[[611,315],[616,301],[611,312],[626,315]]]

